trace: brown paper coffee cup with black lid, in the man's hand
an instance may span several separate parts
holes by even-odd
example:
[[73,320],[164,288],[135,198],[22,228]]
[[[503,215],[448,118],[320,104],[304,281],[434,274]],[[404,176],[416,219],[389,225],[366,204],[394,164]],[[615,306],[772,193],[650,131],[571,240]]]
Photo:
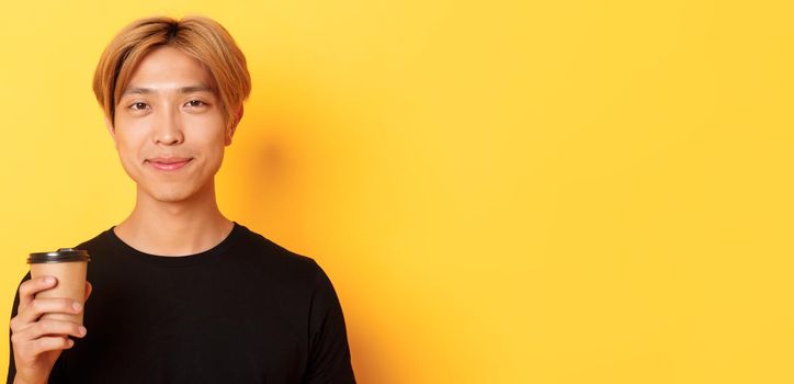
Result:
[[[38,292],[36,297],[71,298],[84,304],[86,272],[91,257],[88,251],[72,248],[60,248],[55,252],[31,253],[27,263],[31,266],[31,278],[55,276],[55,287]],[[45,314],[42,318],[72,321],[82,325],[82,312],[79,314]]]

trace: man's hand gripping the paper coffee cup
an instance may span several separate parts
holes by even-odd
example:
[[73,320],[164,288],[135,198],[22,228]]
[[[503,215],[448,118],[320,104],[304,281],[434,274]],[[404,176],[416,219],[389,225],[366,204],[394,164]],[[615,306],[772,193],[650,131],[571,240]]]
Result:
[[[82,305],[70,298],[35,298],[36,294],[57,284],[54,276],[38,276],[20,285],[20,306],[11,319],[11,343],[16,363],[14,383],[46,383],[60,352],[81,338],[86,328],[71,323],[42,319],[49,313],[79,314]],[[86,282],[86,300],[91,295],[91,283]]]

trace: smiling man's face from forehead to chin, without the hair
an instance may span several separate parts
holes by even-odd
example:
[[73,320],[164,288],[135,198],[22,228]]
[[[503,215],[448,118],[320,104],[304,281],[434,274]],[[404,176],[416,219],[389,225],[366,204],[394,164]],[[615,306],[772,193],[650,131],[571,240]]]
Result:
[[109,129],[138,194],[181,202],[214,190],[231,143],[207,69],[181,50],[151,50],[135,69]]

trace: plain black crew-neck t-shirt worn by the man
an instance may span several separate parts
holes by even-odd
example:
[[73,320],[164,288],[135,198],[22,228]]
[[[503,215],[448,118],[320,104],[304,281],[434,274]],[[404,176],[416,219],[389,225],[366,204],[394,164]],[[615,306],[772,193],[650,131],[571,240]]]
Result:
[[[77,248],[91,255],[88,335],[50,383],[355,383],[339,300],[310,258],[237,223],[185,257],[140,252],[113,228]],[[19,292],[12,317],[18,306]]]

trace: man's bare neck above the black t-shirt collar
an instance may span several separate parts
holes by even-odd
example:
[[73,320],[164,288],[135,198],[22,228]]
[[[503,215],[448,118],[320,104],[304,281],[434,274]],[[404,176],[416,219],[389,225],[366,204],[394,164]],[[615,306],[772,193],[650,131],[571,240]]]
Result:
[[186,256],[217,246],[232,227],[218,210],[211,183],[205,191],[177,202],[158,201],[138,189],[133,213],[114,231],[141,252]]

